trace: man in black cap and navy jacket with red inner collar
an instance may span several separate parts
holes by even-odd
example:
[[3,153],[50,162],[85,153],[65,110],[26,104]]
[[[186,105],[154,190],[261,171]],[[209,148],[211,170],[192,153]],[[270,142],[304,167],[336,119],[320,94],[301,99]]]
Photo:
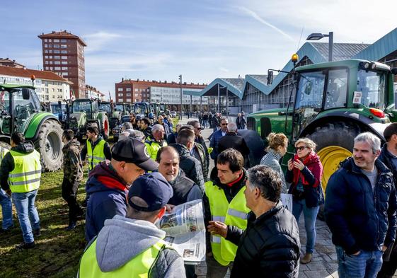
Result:
[[159,166],[151,160],[146,146],[137,139],[118,141],[112,148],[112,160],[103,161],[90,171],[87,193],[86,240],[98,235],[106,219],[127,212],[126,192],[145,171]]

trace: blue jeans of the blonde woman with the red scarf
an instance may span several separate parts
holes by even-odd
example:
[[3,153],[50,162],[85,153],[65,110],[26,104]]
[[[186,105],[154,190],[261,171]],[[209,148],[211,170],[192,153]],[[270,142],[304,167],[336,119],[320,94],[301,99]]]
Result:
[[304,211],[304,228],[306,230],[306,253],[313,254],[314,243],[316,243],[316,218],[320,207],[306,207],[305,199],[292,201],[292,214],[294,214],[297,223],[302,210]]

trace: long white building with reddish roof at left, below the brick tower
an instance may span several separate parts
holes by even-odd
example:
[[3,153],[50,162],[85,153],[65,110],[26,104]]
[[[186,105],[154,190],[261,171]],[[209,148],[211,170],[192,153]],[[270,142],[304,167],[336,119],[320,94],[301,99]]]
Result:
[[32,75],[35,76],[34,86],[40,101],[54,103],[70,98],[71,81],[51,71],[0,66],[0,83],[32,85]]

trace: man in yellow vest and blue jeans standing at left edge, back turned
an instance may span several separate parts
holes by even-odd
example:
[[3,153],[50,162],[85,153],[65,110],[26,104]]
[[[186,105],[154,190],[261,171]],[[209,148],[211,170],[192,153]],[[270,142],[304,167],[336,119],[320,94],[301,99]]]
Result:
[[[40,154],[23,134],[11,134],[11,150],[1,160],[1,188],[11,195],[18,214],[23,234],[23,243],[18,249],[35,247],[35,238],[40,236],[40,218],[35,199],[40,187]],[[11,194],[12,192],[12,194]]]

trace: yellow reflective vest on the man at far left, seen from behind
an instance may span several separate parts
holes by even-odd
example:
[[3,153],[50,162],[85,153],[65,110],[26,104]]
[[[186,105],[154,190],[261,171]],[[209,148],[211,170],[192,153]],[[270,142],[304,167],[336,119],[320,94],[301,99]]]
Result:
[[11,192],[24,193],[40,187],[41,163],[40,154],[34,150],[29,154],[10,151],[15,167],[8,174]]

